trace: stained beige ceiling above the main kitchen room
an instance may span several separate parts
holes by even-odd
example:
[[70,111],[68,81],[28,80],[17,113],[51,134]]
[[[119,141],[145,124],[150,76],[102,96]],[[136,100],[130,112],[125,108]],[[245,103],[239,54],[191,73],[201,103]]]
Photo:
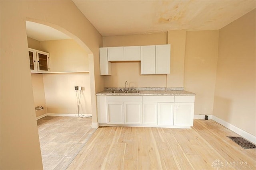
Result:
[[220,29],[256,0],[72,0],[102,36]]

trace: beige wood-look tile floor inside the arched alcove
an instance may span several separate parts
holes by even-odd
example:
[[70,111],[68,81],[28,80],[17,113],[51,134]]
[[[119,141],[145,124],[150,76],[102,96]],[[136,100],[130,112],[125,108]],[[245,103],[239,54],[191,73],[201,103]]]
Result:
[[46,116],[37,120],[44,170],[64,170],[96,128],[92,118]]

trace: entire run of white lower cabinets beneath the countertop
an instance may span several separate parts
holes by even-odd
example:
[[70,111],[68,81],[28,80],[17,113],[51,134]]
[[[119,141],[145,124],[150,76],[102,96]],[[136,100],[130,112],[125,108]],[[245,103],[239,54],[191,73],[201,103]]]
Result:
[[98,123],[193,126],[195,96],[97,96]]

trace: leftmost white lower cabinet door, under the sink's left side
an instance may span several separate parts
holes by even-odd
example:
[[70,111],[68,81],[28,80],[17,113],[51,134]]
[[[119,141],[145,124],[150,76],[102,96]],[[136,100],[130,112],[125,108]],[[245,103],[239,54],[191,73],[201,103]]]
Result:
[[108,123],[124,124],[124,103],[108,102],[107,104]]

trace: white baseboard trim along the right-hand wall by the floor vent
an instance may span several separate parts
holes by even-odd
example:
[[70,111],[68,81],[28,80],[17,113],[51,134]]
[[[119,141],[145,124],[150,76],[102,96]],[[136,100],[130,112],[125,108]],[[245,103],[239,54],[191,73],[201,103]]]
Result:
[[224,120],[222,120],[222,119],[220,119],[216,116],[214,116],[214,115],[212,115],[212,120],[220,123],[224,127],[228,128],[231,131],[237,133],[238,135],[244,137],[248,141],[256,144],[256,136],[254,136],[254,135],[252,135],[252,134],[250,134],[250,133],[248,133],[248,132],[246,132],[246,131],[244,131],[244,130],[242,130],[242,129],[240,129],[240,128],[238,128],[238,127],[236,127],[236,126],[234,126],[234,125],[232,125],[232,124],[230,124],[230,123],[228,123],[228,122],[226,122],[226,121],[224,121]]

